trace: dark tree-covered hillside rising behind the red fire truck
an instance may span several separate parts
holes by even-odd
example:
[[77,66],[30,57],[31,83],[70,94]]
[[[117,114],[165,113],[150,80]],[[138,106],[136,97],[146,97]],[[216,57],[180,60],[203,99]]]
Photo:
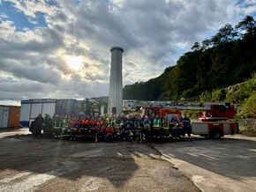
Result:
[[211,39],[195,42],[192,51],[160,77],[125,85],[124,99],[240,102],[229,97],[227,90],[230,85],[255,79],[255,49],[256,22],[246,16],[237,26],[227,24]]

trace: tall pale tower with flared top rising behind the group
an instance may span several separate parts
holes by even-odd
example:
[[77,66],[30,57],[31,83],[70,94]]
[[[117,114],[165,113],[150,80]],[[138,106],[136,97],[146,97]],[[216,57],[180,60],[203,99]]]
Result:
[[109,104],[108,114],[121,114],[123,112],[123,75],[122,54],[123,48],[112,47],[111,68],[109,80]]

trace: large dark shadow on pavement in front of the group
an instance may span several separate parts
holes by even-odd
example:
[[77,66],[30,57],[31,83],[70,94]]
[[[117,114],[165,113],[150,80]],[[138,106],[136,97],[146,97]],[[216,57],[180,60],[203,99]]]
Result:
[[34,138],[28,130],[16,131],[0,133],[1,172],[17,170],[72,181],[87,175],[106,178],[121,188],[139,168],[135,159],[160,157],[158,151],[145,149],[145,144]]

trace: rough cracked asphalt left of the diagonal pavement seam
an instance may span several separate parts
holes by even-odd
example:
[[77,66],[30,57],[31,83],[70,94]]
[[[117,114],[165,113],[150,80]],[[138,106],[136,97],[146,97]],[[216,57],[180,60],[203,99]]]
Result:
[[0,191],[200,191],[151,144],[0,133]]

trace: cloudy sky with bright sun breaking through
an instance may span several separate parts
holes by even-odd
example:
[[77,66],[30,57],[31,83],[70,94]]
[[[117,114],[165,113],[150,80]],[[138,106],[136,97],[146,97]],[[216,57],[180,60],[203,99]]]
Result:
[[246,15],[255,0],[0,0],[0,105],[108,96],[111,47],[131,85]]

